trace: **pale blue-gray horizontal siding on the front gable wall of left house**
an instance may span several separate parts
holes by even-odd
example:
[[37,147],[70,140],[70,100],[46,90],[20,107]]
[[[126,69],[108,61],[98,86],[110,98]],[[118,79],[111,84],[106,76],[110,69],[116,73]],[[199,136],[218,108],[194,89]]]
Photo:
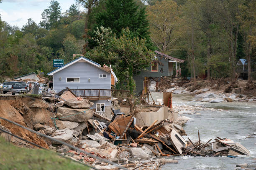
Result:
[[[100,78],[99,74],[106,74],[107,77]],[[80,82],[66,82],[67,77],[80,77]],[[70,89],[111,89],[111,74],[88,62],[76,62],[53,75],[53,89],[56,92],[66,87]]]

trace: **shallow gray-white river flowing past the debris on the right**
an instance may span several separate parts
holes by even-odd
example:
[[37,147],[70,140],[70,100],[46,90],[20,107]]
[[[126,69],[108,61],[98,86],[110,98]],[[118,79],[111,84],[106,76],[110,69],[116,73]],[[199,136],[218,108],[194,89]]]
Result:
[[[161,92],[153,92],[153,98],[162,98]],[[198,140],[198,130],[200,139],[207,142],[209,139],[229,138],[236,143],[240,143],[250,151],[249,156],[228,157],[194,157],[179,156],[170,157],[178,160],[178,164],[166,164],[162,170],[234,170],[237,164],[252,163],[256,158],[256,136],[246,138],[256,132],[256,103],[255,102],[221,102],[209,103],[195,101],[192,95],[173,95],[173,106],[193,105],[199,107],[214,108],[214,110],[202,110],[185,116],[190,117],[184,125],[184,130],[188,136],[183,136],[185,140],[189,137],[192,141]],[[218,110],[219,109],[219,110]],[[253,136],[253,135],[252,135]]]

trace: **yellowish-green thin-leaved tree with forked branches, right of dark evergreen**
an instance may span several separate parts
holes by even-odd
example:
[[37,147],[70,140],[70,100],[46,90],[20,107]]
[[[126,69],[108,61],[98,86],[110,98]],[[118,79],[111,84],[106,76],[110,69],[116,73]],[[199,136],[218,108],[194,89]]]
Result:
[[179,35],[179,10],[173,0],[162,0],[147,7],[150,35],[161,52],[173,50]]

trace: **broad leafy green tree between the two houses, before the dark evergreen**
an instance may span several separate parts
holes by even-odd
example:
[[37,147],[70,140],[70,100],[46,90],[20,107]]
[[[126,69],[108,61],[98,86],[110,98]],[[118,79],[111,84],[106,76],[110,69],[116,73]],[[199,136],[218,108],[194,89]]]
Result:
[[135,88],[133,75],[150,65],[154,52],[146,47],[146,39],[131,38],[128,28],[122,30],[119,38],[115,35],[108,36],[112,34],[110,29],[103,27],[100,29],[103,35],[100,32],[96,34],[99,45],[88,51],[85,56],[102,65],[113,65],[120,79],[119,82],[128,80],[129,90],[133,94]]

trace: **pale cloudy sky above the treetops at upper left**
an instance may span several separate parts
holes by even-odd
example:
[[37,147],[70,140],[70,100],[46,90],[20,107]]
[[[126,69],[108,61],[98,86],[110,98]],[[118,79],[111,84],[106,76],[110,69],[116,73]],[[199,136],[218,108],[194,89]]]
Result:
[[[74,3],[74,0],[57,0],[64,13]],[[3,0],[0,3],[1,19],[11,26],[22,28],[28,18],[40,23],[41,13],[50,6],[51,0]]]

